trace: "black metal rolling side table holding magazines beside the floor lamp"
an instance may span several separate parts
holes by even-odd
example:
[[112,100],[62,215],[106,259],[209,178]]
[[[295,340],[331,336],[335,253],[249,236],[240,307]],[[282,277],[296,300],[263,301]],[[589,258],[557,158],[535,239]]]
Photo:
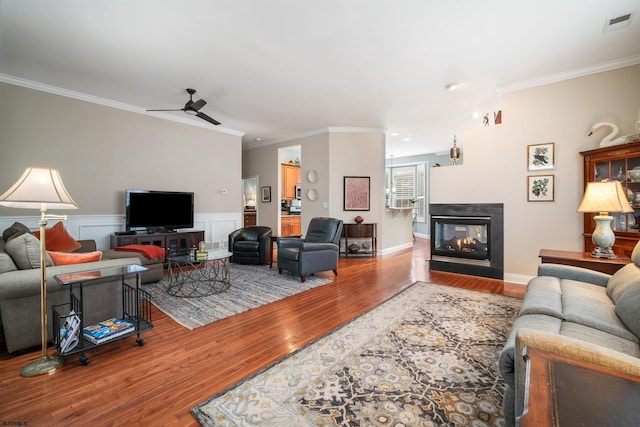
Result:
[[[91,271],[80,271],[76,273],[60,274],[54,276],[58,283],[69,286],[69,302],[65,304],[54,305],[51,310],[53,314],[54,325],[54,343],[61,356],[68,356],[80,353],[80,363],[89,364],[89,358],[84,352],[99,345],[108,344],[121,338],[137,334],[136,343],[144,345],[144,340],[140,337],[140,333],[153,328],[151,323],[151,297],[144,290],[140,289],[140,276],[148,269],[137,264],[131,264],[120,267],[107,267]],[[104,281],[105,279],[120,278],[122,282],[122,320],[130,322],[134,325],[133,330],[126,334],[114,336],[113,339],[94,344],[85,339],[82,330],[85,328],[83,311],[84,297],[83,286],[94,282]],[[128,283],[135,279],[135,284]],[[73,313],[71,313],[73,311]],[[115,313],[114,313],[115,314]],[[63,351],[61,342],[61,328],[65,322],[70,321],[71,317],[77,316],[79,319],[79,327],[77,329],[78,343],[66,351]]]

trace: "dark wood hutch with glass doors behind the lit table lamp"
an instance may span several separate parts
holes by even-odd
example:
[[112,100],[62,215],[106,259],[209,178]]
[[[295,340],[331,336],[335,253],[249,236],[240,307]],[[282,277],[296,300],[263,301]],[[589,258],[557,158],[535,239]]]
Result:
[[[614,145],[582,151],[584,157],[584,187],[587,182],[603,179],[620,181],[629,196],[629,202],[635,212],[628,214],[611,213],[611,224],[616,235],[613,252],[620,257],[630,257],[633,248],[640,240],[640,180],[632,180],[629,171],[640,167],[640,141],[630,144]],[[593,217],[596,214],[584,214],[584,249],[593,250],[591,234],[595,228]]]

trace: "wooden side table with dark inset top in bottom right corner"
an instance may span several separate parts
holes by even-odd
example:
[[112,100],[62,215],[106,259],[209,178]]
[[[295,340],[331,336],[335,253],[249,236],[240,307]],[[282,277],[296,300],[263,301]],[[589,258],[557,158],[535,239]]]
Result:
[[640,377],[533,347],[519,427],[638,426]]

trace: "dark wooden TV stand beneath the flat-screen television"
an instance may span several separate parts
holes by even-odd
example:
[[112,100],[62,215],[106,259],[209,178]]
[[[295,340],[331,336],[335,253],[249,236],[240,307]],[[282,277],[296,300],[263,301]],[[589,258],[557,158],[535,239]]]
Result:
[[136,234],[111,235],[111,248],[126,245],[155,245],[164,248],[167,256],[187,255],[189,249],[198,247],[204,240],[204,231],[153,231]]

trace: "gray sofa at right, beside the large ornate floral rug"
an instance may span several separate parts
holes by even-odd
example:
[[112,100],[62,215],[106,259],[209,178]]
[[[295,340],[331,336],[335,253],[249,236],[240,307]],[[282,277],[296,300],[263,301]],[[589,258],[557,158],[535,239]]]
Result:
[[500,355],[508,426],[525,407],[525,347],[640,375],[640,243],[631,259],[614,275],[540,265]]

